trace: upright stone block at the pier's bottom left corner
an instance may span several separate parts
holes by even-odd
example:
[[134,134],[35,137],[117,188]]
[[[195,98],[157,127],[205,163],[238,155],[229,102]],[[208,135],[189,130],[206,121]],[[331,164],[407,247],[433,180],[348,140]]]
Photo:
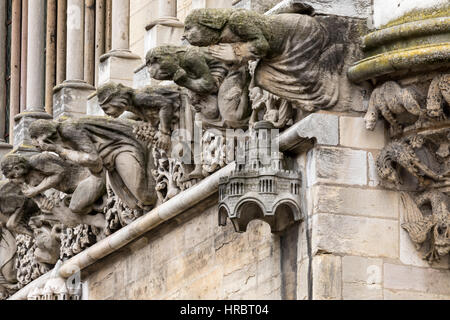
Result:
[[313,258],[312,264],[313,300],[342,299],[341,257],[321,254]]

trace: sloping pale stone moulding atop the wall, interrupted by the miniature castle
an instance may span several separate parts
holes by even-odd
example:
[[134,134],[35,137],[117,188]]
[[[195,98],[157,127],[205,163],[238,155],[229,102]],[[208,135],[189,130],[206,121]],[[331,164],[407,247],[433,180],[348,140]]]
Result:
[[[326,137],[329,137],[337,132],[337,127],[333,129],[333,124],[335,123],[334,120],[336,119],[336,116],[330,114],[313,114],[297,122],[288,132],[280,135],[280,151],[289,150],[290,152],[295,153],[305,152],[312,147],[313,144],[305,144],[304,142],[310,141],[312,138],[315,138],[318,143],[322,142],[323,144],[327,144]],[[313,137],[311,135],[305,136],[302,132],[305,131],[305,128],[314,126],[314,123],[316,123],[315,126],[321,126],[328,129],[317,132],[317,137]],[[295,137],[298,144],[294,143]],[[111,236],[97,242],[92,247],[86,249],[75,257],[65,261],[59,269],[59,276],[65,279],[69,278],[107,255],[126,246],[128,243],[139,238],[143,234],[153,230],[163,222],[173,219],[177,215],[185,212],[187,209],[192,208],[196,204],[217,192],[220,178],[229,176],[235,169],[235,163],[229,164],[187,191],[180,193],[169,201],[153,209],[140,219],[120,229]],[[51,272],[44,274],[20,291],[16,292],[9,299],[26,300],[28,294],[31,293],[32,290],[36,287],[42,287],[50,278]]]

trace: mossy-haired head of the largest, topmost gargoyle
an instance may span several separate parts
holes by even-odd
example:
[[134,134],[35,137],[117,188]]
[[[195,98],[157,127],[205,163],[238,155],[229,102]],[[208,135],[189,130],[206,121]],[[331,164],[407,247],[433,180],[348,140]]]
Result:
[[184,23],[183,39],[198,47],[217,44],[231,13],[231,9],[192,10]]

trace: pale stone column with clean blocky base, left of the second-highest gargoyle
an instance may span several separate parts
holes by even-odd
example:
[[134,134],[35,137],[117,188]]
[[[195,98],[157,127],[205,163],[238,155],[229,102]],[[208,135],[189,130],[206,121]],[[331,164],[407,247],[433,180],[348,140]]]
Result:
[[142,60],[129,48],[130,0],[112,0],[111,24],[111,51],[100,57],[98,85],[113,81],[131,87]]

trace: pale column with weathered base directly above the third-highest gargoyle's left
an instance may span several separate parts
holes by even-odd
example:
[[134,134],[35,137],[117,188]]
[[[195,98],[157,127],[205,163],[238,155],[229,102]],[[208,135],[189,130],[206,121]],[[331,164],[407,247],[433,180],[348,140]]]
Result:
[[84,8],[84,0],[67,1],[66,80],[53,90],[55,118],[86,115],[87,97],[95,90],[84,81]]

